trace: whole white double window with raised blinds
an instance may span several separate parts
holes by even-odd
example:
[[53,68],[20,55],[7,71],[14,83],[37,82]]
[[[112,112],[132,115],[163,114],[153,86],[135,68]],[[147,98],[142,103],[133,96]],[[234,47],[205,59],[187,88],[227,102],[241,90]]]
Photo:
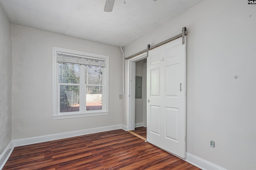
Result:
[[108,114],[108,56],[53,47],[53,119]]

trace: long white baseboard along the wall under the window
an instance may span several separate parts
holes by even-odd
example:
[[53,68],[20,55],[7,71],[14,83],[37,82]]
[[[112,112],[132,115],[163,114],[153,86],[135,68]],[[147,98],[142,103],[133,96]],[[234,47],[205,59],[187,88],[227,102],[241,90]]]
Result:
[[16,139],[12,140],[14,147],[24,146],[24,145],[31,145],[35,143],[41,142],[48,142],[54,141],[58,139],[65,139],[69,137],[76,137],[81,135],[88,135],[92,133],[104,132],[104,131],[112,131],[116,129],[122,129],[122,125],[111,125],[111,126],[104,126],[104,127],[96,127],[91,129],[83,129],[78,131],[70,131],[70,132],[63,132],[63,133],[56,133],[51,135],[43,135],[37,137],[29,137],[24,139]]

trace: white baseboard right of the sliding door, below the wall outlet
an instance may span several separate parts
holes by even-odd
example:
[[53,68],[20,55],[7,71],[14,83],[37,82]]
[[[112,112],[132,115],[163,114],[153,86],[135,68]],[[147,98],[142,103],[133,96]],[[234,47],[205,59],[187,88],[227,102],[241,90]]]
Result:
[[202,170],[226,170],[218,165],[215,165],[207,160],[194,156],[188,152],[186,152],[186,159],[183,159],[186,162],[201,168]]

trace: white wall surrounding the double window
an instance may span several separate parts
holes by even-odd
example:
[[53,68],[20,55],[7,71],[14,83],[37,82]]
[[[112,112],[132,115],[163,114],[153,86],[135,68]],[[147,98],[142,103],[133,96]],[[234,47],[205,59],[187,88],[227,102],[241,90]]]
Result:
[[[122,123],[120,48],[11,25],[12,139]],[[109,115],[52,120],[52,46],[109,56]]]

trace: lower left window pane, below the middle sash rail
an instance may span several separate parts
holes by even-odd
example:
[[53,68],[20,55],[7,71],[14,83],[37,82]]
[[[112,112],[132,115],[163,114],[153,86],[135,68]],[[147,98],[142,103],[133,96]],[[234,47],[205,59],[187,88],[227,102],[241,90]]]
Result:
[[60,112],[79,111],[79,86],[60,85]]

